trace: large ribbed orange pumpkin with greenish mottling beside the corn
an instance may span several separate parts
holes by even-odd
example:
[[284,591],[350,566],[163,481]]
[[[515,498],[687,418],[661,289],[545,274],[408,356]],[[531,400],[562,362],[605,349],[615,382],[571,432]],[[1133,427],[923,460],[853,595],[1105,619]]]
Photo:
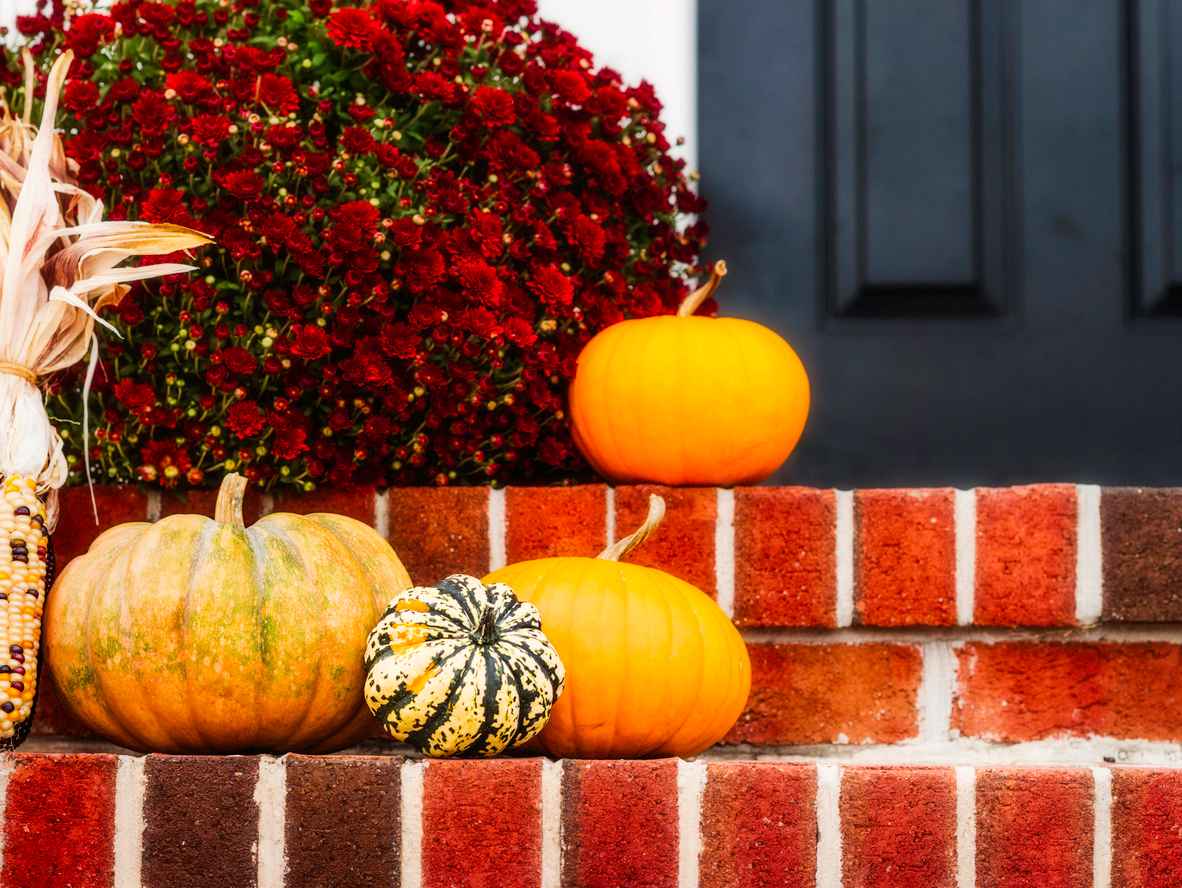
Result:
[[69,708],[112,743],[279,753],[372,732],[365,639],[407,571],[344,516],[245,526],[245,488],[227,475],[213,520],[112,527],[53,586],[50,668]]

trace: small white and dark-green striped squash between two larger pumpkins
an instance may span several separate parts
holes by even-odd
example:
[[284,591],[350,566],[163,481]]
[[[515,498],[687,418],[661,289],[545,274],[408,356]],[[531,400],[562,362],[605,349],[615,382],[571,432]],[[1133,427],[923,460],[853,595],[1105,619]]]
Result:
[[566,672],[538,609],[456,573],[390,602],[365,648],[365,702],[428,756],[495,756],[537,734]]

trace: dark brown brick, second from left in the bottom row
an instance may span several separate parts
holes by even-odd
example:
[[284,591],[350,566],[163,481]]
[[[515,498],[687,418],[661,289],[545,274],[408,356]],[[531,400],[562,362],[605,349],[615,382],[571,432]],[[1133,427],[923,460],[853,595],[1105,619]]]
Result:
[[144,888],[254,888],[259,760],[149,756],[144,776]]

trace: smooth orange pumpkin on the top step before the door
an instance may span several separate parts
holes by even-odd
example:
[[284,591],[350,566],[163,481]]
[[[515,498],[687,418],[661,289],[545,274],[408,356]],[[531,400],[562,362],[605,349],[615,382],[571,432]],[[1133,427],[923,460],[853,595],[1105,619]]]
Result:
[[570,389],[574,442],[617,482],[732,487],[772,474],[808,417],[808,376],[779,335],[752,320],[694,315],[726,264],[676,316],[623,320],[579,355]]

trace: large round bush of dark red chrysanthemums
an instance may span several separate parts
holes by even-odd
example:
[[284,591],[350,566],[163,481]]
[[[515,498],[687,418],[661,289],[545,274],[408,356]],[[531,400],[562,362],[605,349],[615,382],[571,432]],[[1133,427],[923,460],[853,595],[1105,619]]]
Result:
[[[564,415],[578,352],[671,312],[704,228],[652,90],[596,70],[534,7],[124,0],[19,21],[43,67],[79,57],[79,181],[115,218],[217,240],[203,274],[138,287],[112,317],[99,478],[586,472]],[[57,385],[56,413],[80,415],[78,387]]]

